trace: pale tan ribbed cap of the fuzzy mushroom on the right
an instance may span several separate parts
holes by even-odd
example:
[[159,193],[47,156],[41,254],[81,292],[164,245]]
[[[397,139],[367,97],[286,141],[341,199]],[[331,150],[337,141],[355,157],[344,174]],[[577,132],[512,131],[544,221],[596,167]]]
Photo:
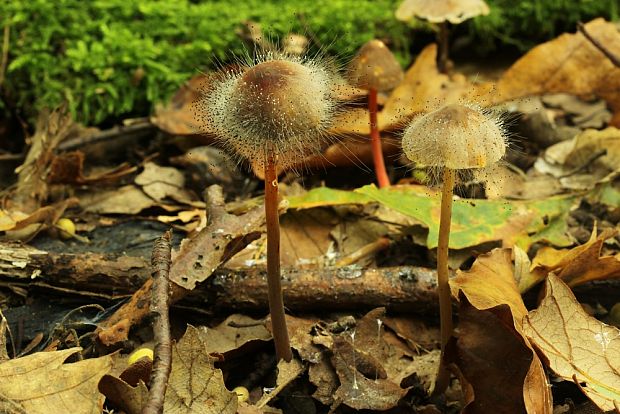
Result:
[[403,152],[427,167],[484,168],[506,152],[506,134],[497,117],[465,105],[447,105],[414,119],[403,133]]

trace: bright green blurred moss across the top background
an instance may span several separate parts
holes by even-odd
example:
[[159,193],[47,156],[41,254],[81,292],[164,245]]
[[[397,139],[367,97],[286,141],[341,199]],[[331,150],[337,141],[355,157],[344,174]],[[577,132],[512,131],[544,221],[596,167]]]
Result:
[[[472,55],[523,52],[577,21],[618,18],[618,0],[487,0],[489,16],[455,28]],[[87,124],[144,116],[191,76],[244,51],[247,20],[272,38],[312,34],[346,62],[367,40],[390,45],[403,66],[433,40],[430,26],[394,18],[400,0],[9,0],[0,110],[32,119],[68,102]],[[468,46],[469,45],[469,46]],[[315,44],[316,46],[316,44]]]

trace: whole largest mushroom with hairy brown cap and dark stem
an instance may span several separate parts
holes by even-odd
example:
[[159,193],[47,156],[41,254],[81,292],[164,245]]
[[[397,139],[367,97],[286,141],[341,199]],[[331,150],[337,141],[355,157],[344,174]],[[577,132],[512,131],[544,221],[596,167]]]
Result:
[[267,53],[257,63],[219,73],[197,109],[233,155],[264,171],[269,312],[279,359],[292,352],[280,281],[277,168],[318,153],[334,115],[334,76],[320,61]]

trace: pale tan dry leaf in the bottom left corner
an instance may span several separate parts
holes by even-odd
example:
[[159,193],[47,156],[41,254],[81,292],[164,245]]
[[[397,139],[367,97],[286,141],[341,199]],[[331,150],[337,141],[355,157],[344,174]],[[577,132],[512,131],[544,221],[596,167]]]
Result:
[[97,383],[112,367],[110,356],[63,362],[80,352],[70,348],[38,352],[0,364],[0,395],[29,414],[100,414]]

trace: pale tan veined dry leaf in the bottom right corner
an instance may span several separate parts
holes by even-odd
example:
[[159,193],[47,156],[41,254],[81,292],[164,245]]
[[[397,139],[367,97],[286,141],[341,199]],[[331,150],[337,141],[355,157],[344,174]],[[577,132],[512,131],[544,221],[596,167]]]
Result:
[[575,381],[600,409],[620,405],[620,330],[588,315],[553,273],[545,298],[524,320],[530,341],[548,366]]

